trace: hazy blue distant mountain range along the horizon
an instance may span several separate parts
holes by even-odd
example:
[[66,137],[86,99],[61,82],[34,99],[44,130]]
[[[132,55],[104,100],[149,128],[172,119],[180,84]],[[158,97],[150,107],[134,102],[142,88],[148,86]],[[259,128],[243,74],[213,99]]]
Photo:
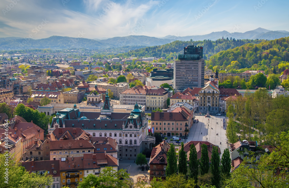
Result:
[[135,46],[136,49],[144,46],[159,46],[168,44],[176,40],[202,41],[202,40],[217,40],[224,38],[237,39],[267,39],[274,40],[281,37],[288,37],[288,31],[270,31],[263,28],[257,28],[245,33],[229,33],[228,31],[212,32],[206,35],[192,36],[174,36],[167,35],[165,37],[148,37],[143,35],[130,35],[126,37],[101,37],[100,39],[73,38],[62,36],[51,36],[45,39],[30,39],[21,37],[4,37],[0,38],[0,50],[18,50],[18,49],[35,49],[35,48],[51,48],[51,49],[68,49],[68,48],[88,48],[88,49],[109,49],[120,48],[123,46]]

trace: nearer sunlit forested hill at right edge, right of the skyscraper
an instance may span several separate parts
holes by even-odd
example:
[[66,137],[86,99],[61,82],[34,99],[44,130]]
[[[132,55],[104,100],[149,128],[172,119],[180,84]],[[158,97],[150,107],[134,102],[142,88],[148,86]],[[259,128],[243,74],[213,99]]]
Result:
[[[204,48],[205,49],[205,48]],[[221,66],[227,72],[242,68],[264,70],[266,74],[283,72],[289,68],[289,37],[264,41],[259,44],[244,44],[234,49],[218,52],[210,57],[207,65]],[[239,70],[239,72],[242,70]],[[275,72],[276,71],[276,72]]]

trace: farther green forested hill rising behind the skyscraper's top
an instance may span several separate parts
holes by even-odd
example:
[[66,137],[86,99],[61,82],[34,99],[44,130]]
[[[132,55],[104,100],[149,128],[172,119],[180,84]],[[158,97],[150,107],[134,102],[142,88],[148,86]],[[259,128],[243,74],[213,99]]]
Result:
[[203,46],[204,59],[216,54],[222,50],[232,49],[237,46],[242,46],[247,43],[259,44],[260,42],[265,42],[266,40],[227,40],[218,39],[216,41],[203,40],[203,41],[174,41],[161,46],[152,46],[146,48],[140,48],[136,50],[129,51],[127,53],[118,54],[119,57],[166,57],[167,60],[176,58],[177,54],[184,53],[184,47],[194,43],[195,46]]

